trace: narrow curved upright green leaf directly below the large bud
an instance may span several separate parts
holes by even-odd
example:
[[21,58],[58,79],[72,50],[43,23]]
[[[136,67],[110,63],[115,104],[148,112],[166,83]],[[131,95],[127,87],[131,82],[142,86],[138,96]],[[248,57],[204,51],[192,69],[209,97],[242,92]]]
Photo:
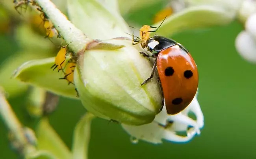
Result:
[[76,125],[72,147],[73,159],[87,159],[88,157],[91,120],[93,118],[95,118],[93,114],[86,113]]

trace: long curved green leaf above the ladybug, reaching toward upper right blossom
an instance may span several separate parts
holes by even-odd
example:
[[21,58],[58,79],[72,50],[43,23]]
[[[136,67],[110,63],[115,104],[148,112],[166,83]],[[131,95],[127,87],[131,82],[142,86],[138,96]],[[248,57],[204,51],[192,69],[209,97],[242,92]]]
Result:
[[[234,20],[234,14],[228,14],[221,7],[193,6],[167,17],[157,31],[157,34],[171,36],[174,33],[184,30],[225,25],[232,20]],[[158,27],[160,23],[154,24],[153,26]]]

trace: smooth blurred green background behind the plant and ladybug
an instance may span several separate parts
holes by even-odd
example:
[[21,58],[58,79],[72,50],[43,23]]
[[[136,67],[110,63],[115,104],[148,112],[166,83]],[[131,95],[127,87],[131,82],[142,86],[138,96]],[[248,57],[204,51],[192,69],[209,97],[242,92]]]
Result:
[[[152,6],[125,18],[150,24],[152,10],[158,9]],[[198,101],[205,121],[200,136],[186,144],[168,141],[158,145],[143,141],[132,144],[119,124],[97,118],[92,123],[89,159],[256,158],[256,65],[243,60],[236,52],[234,40],[242,29],[241,24],[232,22],[228,26],[186,31],[172,37],[189,49],[198,65]],[[19,50],[15,39],[3,34],[0,48],[0,63]],[[9,98],[9,102],[25,126],[33,128],[37,124],[26,112],[26,93]],[[85,111],[79,101],[61,97],[58,109],[50,115],[50,123],[69,148],[74,126]],[[0,143],[1,159],[19,158],[11,150],[2,121]]]

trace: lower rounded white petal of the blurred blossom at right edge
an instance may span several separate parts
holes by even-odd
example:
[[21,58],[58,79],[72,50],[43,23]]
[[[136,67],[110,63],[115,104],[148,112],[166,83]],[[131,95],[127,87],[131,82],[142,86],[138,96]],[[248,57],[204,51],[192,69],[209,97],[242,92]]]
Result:
[[236,49],[244,59],[256,63],[256,40],[248,31],[241,31],[237,35]]

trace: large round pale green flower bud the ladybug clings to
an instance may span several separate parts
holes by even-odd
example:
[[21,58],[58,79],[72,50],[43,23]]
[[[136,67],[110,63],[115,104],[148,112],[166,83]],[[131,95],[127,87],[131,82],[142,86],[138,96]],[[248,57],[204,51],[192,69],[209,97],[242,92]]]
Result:
[[78,53],[74,83],[82,104],[94,115],[141,125],[160,112],[161,91],[156,77],[141,86],[150,76],[152,63],[131,42],[116,38],[88,44]]

